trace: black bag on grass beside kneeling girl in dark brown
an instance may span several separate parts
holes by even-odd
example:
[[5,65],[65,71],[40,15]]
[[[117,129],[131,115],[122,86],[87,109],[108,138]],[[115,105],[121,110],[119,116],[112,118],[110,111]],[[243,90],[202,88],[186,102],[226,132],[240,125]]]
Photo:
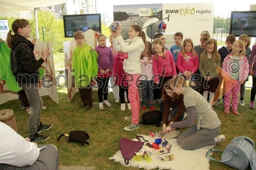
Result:
[[142,114],[140,124],[159,124],[163,121],[162,113],[159,110],[147,111]]

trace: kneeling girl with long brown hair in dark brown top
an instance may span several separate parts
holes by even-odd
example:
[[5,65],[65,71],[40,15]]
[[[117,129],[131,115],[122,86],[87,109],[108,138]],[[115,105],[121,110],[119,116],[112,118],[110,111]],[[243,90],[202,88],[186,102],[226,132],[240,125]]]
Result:
[[179,122],[183,120],[184,111],[186,110],[183,103],[183,94],[177,95],[169,84],[170,80],[164,83],[162,98],[159,100],[160,111],[163,114],[163,130],[168,124],[169,114],[172,116],[170,123]]

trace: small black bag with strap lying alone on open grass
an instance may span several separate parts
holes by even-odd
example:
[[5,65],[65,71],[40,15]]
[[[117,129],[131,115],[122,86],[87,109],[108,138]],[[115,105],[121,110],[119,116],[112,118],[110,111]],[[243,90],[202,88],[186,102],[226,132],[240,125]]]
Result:
[[69,143],[69,142],[74,142],[74,141],[76,141],[76,142],[81,143],[81,145],[83,145],[83,147],[86,146],[85,143],[89,145],[89,143],[86,141],[86,140],[90,139],[90,136],[89,136],[89,134],[88,134],[87,132],[75,130],[75,131],[70,131],[69,135],[62,133],[62,134],[58,137],[57,141],[59,141],[59,139],[60,139],[62,136],[64,136],[64,135],[65,135],[66,137],[69,137],[68,143]]

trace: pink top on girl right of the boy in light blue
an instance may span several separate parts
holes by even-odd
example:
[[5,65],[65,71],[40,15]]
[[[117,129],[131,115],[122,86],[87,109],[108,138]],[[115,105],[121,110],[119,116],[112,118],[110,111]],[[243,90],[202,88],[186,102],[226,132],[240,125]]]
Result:
[[182,74],[185,71],[192,71],[193,74],[195,74],[199,65],[198,54],[196,53],[196,57],[194,57],[194,55],[190,52],[186,53],[186,55],[188,56],[187,58],[182,55],[182,52],[179,53],[177,58],[177,68]]

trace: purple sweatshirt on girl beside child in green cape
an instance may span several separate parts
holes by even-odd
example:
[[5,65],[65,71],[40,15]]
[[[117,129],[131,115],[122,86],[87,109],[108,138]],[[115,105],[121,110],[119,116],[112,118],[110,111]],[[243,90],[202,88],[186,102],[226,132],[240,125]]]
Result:
[[106,69],[112,69],[113,67],[113,62],[114,62],[114,58],[113,58],[113,53],[110,47],[108,46],[96,46],[95,47],[96,52],[98,53],[98,69],[100,70],[106,70]]

